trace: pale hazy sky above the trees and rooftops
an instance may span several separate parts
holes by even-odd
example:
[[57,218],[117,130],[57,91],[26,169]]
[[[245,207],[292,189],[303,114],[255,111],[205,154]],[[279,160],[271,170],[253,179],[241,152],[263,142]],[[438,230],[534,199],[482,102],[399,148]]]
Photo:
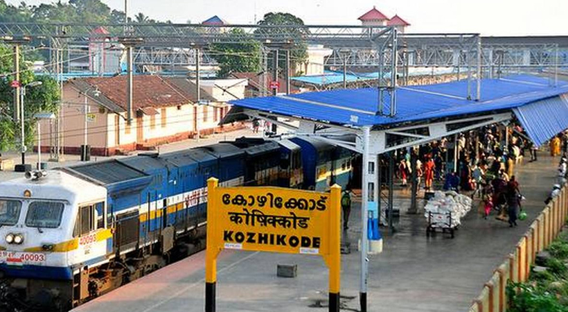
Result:
[[[21,0],[8,0],[16,4]],[[200,23],[218,15],[231,24],[253,24],[267,12],[290,12],[305,24],[359,25],[357,17],[376,6],[411,24],[409,33],[568,35],[568,0],[127,0],[129,16]],[[28,4],[53,1],[27,0]],[[123,10],[124,0],[103,0]]]

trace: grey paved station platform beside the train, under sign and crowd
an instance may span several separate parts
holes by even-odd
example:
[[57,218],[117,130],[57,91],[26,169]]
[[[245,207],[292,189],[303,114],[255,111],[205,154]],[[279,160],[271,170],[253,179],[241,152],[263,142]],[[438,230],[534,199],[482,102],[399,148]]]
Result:
[[[384,251],[369,259],[369,311],[468,311],[493,270],[513,251],[515,243],[544,208],[556,181],[558,157],[544,153],[538,162],[517,165],[515,174],[526,197],[528,218],[518,227],[477,214],[477,200],[462,220],[454,239],[427,239],[421,204],[416,215],[406,213],[409,189],[398,189],[395,204],[401,214],[397,231],[382,229]],[[350,229],[344,234],[352,248],[341,257],[341,309],[358,311],[360,205],[355,203]],[[201,312],[204,311],[204,252],[98,297],[74,312]],[[276,277],[277,264],[297,264],[295,278]],[[218,311],[327,311],[328,270],[320,257],[225,250],[218,259]]]

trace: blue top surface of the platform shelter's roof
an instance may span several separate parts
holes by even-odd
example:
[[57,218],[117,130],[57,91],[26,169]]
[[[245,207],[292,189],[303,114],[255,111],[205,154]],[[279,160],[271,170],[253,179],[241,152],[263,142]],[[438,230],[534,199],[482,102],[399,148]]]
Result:
[[[380,116],[378,90],[375,88],[335,89],[306,92],[290,96],[245,98],[231,101],[233,105],[296,116],[339,125],[394,125],[450,116],[511,110],[528,103],[568,93],[568,83],[549,85],[547,78],[511,76],[481,80],[481,101],[465,98],[467,80],[437,85],[398,87],[396,116]],[[475,91],[475,83],[471,85]],[[384,112],[389,111],[390,96],[384,96]]]

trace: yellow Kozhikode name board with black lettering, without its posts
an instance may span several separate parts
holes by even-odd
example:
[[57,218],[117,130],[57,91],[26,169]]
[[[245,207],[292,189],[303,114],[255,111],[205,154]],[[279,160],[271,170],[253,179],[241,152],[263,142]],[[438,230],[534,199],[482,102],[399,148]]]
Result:
[[329,194],[236,187],[216,195],[215,231],[223,248],[329,254]]

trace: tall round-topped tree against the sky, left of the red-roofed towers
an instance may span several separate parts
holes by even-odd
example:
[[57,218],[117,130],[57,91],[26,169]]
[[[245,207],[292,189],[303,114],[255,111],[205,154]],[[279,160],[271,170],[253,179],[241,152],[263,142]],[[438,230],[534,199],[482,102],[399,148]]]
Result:
[[[279,31],[277,28],[272,28],[270,30],[257,30],[256,33],[263,31],[264,33],[272,33],[274,37],[280,37],[280,39],[284,42],[285,40],[292,40],[294,47],[290,51],[290,62],[292,67],[296,67],[297,64],[301,64],[308,59],[308,53],[306,52],[308,46],[303,43],[303,38],[305,35],[308,35],[310,31],[308,28],[302,27],[304,25],[303,20],[295,15],[290,13],[283,13],[283,12],[270,12],[265,14],[262,20],[258,21],[258,25],[265,25],[265,26],[283,26],[283,25],[290,25],[290,26],[299,26],[299,27],[292,27],[287,29],[287,34],[290,36],[283,36],[283,33]],[[278,42],[275,42],[278,43]],[[279,68],[285,68],[285,60],[284,58],[280,59],[278,62]],[[272,62],[269,62],[269,68],[272,68]]]

